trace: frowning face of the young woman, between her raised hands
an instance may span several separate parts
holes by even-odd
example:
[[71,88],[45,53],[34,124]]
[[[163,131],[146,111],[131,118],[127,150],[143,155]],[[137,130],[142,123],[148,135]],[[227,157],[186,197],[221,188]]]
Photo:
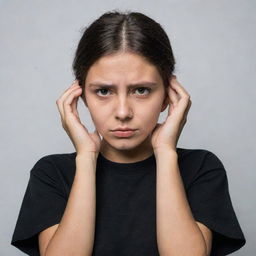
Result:
[[[101,151],[152,151],[151,132],[160,112],[168,106],[154,65],[132,53],[104,56],[88,70],[85,98],[94,125],[103,137]],[[118,137],[113,133],[118,127],[136,130],[129,137]]]

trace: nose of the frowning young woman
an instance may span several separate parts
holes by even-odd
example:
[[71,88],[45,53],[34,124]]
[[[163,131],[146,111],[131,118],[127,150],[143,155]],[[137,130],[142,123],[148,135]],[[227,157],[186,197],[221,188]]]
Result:
[[115,116],[119,120],[126,120],[132,118],[133,111],[129,99],[125,96],[120,96],[117,100]]

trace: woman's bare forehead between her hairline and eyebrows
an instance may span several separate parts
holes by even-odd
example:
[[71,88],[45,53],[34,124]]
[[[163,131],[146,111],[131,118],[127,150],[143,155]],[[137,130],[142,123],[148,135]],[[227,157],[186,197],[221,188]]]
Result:
[[88,70],[87,82],[102,79],[106,82],[132,83],[139,80],[159,82],[156,67],[145,58],[133,53],[118,53],[101,57]]

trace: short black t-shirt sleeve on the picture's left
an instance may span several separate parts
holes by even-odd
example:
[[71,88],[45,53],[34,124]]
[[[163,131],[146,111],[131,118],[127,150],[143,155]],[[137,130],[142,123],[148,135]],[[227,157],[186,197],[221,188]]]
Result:
[[61,221],[66,202],[57,169],[49,157],[41,158],[30,171],[11,245],[40,256],[38,234]]

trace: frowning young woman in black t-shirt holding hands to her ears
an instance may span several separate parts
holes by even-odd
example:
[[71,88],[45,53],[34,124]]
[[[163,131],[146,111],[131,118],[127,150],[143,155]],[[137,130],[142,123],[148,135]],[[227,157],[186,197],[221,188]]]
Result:
[[142,13],[107,12],[85,30],[76,80],[56,101],[76,151],[33,166],[12,245],[46,256],[206,256],[245,244],[220,159],[177,147],[191,98],[174,65],[168,36]]

